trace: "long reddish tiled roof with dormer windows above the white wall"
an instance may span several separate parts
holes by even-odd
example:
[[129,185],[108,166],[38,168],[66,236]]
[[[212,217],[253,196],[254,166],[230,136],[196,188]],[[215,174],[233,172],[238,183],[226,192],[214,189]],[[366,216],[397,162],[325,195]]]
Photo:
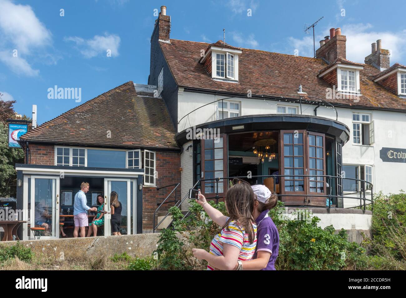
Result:
[[[389,90],[372,81],[380,71],[374,66],[360,64],[361,94],[359,101],[354,99],[326,99],[327,88],[332,88],[318,77],[320,70],[328,64],[322,59],[293,56],[267,51],[244,49],[239,56],[238,84],[215,81],[207,73],[201,59],[201,50],[209,44],[171,39],[171,43],[160,42],[160,46],[178,86],[207,91],[224,91],[231,94],[253,96],[271,94],[298,98],[298,87],[301,84],[304,101],[324,99],[332,104],[354,107],[373,107],[406,110],[406,100],[401,99]],[[358,64],[357,64],[358,65]]]

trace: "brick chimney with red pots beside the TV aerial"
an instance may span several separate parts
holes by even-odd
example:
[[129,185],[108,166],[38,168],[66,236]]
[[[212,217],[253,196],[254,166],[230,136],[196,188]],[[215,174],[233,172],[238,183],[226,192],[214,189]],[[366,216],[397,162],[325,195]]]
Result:
[[346,59],[346,41],[346,36],[341,35],[341,28],[331,28],[330,39],[326,36],[324,44],[320,42],[320,47],[316,50],[316,58],[323,59],[327,63],[339,57]]

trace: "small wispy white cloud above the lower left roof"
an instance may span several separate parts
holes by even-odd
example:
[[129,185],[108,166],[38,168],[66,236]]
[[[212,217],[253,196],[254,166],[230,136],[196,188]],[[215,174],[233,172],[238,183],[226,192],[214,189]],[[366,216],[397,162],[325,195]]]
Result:
[[106,56],[107,51],[111,51],[111,56],[119,56],[120,36],[108,34],[104,36],[95,35],[92,39],[83,39],[78,36],[65,37],[65,41],[76,43],[77,49],[85,58],[93,58],[99,54]]

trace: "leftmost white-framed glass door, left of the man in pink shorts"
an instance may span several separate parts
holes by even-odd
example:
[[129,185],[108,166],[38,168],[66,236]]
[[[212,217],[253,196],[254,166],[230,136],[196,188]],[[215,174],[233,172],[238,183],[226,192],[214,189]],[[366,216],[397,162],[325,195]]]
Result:
[[59,177],[31,176],[30,187],[30,227],[45,228],[41,239],[59,238]]

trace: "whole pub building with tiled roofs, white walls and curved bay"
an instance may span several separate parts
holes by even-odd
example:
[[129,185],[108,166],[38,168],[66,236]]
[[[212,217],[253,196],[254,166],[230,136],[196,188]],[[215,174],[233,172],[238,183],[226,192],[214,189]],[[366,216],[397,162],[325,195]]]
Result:
[[[109,208],[117,191],[121,234],[137,234],[166,227],[175,203],[187,210],[192,187],[222,200],[235,176],[267,185],[288,208],[310,209],[322,227],[354,240],[370,234],[364,204],[406,186],[406,66],[390,66],[380,40],[365,63],[347,60],[340,28],[315,58],[171,39],[170,31],[162,6],[148,85],[127,82],[21,137],[17,204],[33,214],[46,199],[48,237],[60,237],[60,214],[72,214],[82,181],[89,206],[101,193]],[[34,224],[23,225],[24,239]],[[108,220],[100,233],[110,235]]]

